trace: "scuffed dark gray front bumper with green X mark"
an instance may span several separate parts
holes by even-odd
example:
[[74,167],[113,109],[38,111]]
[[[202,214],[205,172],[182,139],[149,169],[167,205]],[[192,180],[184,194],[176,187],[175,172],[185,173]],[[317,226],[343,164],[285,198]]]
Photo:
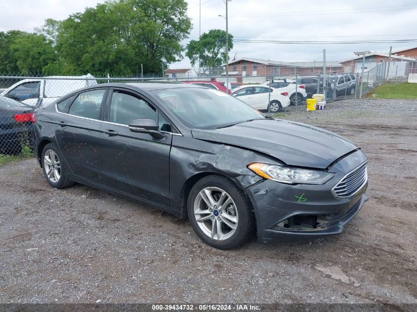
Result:
[[352,169],[352,155],[366,160],[361,151],[350,154],[349,159],[342,159],[329,170],[335,177],[325,184],[264,180],[246,189],[255,211],[258,241],[303,241],[341,233],[368,200],[364,194],[368,181],[348,198],[336,198],[331,191]]

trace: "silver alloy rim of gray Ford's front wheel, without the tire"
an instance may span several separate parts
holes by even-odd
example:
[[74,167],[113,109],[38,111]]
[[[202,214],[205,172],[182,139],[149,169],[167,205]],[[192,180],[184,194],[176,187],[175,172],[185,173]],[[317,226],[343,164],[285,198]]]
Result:
[[194,216],[203,233],[217,241],[232,237],[239,221],[233,199],[218,187],[206,187],[198,193]]

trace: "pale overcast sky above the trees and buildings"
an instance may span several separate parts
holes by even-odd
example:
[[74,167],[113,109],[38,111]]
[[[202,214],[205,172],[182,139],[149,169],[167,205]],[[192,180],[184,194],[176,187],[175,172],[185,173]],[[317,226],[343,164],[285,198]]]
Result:
[[[32,32],[46,18],[62,20],[104,0],[0,0],[0,31]],[[188,0],[193,29],[190,39],[198,39],[199,2]],[[416,0],[232,0],[229,33],[236,39],[251,40],[376,40],[416,39]],[[226,28],[224,0],[201,0],[201,33]],[[389,35],[389,36],[387,36]],[[188,40],[183,42],[186,45]],[[353,57],[353,51],[388,52],[390,43],[361,44],[273,44],[236,42],[230,59],[258,58],[275,61],[319,61],[323,49],[328,60]],[[417,42],[393,43],[393,50],[417,46]],[[189,68],[190,61],[170,68]]]

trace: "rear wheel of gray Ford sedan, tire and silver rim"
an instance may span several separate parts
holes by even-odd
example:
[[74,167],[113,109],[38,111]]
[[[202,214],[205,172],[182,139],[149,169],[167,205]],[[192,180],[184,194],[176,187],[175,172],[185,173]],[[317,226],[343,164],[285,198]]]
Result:
[[68,170],[58,148],[52,143],[46,144],[42,151],[42,170],[46,181],[56,188],[65,188],[74,184],[68,177]]

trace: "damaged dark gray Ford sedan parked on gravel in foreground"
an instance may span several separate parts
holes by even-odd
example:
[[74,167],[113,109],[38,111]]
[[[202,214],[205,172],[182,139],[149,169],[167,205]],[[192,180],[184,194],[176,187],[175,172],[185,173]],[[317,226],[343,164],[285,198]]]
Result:
[[368,199],[368,159],[352,142],[195,85],[86,87],[39,108],[33,129],[53,187],[87,184],[188,218],[216,248],[338,234]]

